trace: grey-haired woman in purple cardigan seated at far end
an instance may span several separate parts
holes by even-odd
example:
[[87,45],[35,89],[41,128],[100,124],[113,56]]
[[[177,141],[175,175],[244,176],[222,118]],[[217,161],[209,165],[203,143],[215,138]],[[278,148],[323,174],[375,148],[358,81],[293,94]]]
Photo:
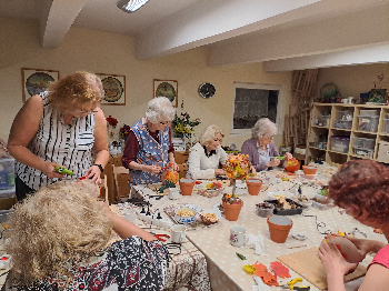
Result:
[[[279,155],[273,141],[276,132],[276,123],[268,118],[260,118],[252,128],[252,138],[242,144],[241,153],[249,155],[251,164],[257,171],[282,165],[283,163],[283,161],[275,158]],[[286,158],[291,159],[292,155],[287,152]]]

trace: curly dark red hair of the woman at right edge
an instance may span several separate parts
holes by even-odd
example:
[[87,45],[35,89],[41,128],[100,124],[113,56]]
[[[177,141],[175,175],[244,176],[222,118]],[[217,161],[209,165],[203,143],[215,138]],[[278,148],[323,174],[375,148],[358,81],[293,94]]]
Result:
[[335,204],[356,212],[363,209],[378,222],[389,221],[389,170],[372,160],[342,164],[329,182],[329,198]]

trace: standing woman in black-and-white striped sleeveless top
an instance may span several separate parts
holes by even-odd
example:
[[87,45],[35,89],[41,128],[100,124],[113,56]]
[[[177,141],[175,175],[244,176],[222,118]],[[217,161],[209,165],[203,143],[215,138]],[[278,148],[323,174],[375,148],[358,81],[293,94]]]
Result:
[[86,175],[101,182],[100,173],[109,159],[107,121],[99,108],[102,98],[100,79],[77,71],[24,103],[8,140],[8,150],[17,160],[19,201],[63,178],[56,165],[71,170],[76,178]]

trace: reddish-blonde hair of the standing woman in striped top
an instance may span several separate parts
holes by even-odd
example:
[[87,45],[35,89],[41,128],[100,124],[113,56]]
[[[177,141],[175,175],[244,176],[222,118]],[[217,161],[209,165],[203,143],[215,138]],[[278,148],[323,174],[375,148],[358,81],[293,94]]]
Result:
[[77,71],[50,83],[47,91],[50,106],[59,110],[79,108],[84,103],[98,106],[104,97],[100,78],[86,71]]

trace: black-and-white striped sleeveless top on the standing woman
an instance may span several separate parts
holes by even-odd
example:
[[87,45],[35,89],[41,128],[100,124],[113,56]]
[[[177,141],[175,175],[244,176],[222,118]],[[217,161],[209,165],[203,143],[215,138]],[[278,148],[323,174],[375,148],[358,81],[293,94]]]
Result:
[[[58,162],[73,171],[72,178],[82,177],[92,165],[94,114],[74,118],[67,126],[63,122],[63,114],[59,114],[49,106],[46,92],[40,97],[43,100],[43,114],[38,132],[30,141],[28,149],[44,161]],[[41,171],[20,162],[16,163],[16,171],[19,179],[34,190],[61,180],[49,179]]]

